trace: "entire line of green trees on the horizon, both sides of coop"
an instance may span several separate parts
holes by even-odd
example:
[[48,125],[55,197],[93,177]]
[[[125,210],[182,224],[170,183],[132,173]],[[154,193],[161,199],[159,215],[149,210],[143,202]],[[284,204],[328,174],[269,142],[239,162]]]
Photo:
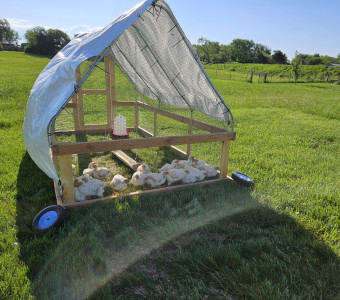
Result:
[[[25,33],[27,44],[25,52],[44,55],[55,55],[69,41],[70,37],[59,29],[45,29],[36,26]],[[0,19],[0,50],[3,43],[17,44],[19,34],[13,30],[6,19]],[[289,64],[286,54],[281,50],[271,49],[253,40],[234,39],[230,44],[223,45],[210,41],[207,38],[199,38],[193,45],[203,63],[261,63],[261,64]],[[340,63],[340,53],[337,58],[319,54],[296,54],[301,64],[318,65]],[[295,57],[296,58],[296,57]]]

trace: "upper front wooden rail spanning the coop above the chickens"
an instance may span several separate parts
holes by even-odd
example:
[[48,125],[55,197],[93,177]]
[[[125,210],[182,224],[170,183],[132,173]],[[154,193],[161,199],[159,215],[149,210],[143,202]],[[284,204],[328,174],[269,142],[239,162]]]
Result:
[[55,155],[106,152],[171,145],[197,144],[234,140],[235,132],[217,132],[187,136],[150,137],[143,139],[122,139],[112,141],[63,143],[52,146]]

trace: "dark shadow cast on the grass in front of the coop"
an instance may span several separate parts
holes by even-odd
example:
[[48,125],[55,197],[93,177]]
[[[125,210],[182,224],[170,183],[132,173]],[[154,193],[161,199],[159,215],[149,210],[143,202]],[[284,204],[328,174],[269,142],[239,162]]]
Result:
[[308,299],[339,292],[332,250],[231,181],[68,209],[65,226],[45,235],[30,225],[55,204],[52,180],[28,154],[17,189],[21,259],[37,299]]

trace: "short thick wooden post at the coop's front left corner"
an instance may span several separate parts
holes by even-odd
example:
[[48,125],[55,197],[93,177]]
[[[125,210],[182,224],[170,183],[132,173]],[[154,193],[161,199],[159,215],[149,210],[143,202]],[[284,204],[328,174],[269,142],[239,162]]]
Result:
[[74,203],[74,187],[72,172],[72,155],[59,155],[60,181],[63,193],[63,203]]

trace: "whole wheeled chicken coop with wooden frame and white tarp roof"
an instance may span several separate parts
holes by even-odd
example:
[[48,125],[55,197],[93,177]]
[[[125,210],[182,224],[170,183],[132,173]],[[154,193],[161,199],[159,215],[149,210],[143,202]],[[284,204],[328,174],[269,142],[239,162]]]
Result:
[[[23,138],[31,158],[54,180],[58,205],[36,216],[33,229],[40,232],[59,226],[68,206],[227,179],[253,183],[241,173],[227,176],[229,143],[235,139],[233,116],[163,0],[141,2],[106,27],[66,45],[32,88]],[[194,158],[191,145],[211,142],[222,143],[220,165],[216,177],[207,180],[212,166]],[[139,180],[150,183],[154,178],[145,175],[147,166],[138,169],[131,157],[132,149],[150,147],[172,148],[183,160],[169,161],[167,167],[177,169],[176,174],[151,170],[166,179],[149,190],[123,192],[128,179],[92,161],[95,153],[109,152],[137,171]],[[204,176],[194,182],[199,171]],[[94,176],[97,173],[103,177]],[[191,173],[197,180],[184,181]],[[177,175],[187,184],[170,185]]]

